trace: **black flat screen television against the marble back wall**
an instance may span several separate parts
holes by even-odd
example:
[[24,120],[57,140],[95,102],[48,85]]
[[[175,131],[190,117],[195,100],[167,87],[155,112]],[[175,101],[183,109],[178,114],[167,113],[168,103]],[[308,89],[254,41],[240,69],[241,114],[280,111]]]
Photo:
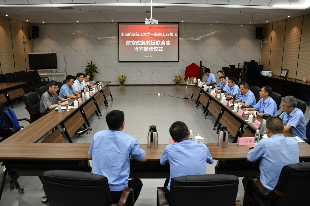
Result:
[[57,70],[56,53],[28,53],[30,70]]

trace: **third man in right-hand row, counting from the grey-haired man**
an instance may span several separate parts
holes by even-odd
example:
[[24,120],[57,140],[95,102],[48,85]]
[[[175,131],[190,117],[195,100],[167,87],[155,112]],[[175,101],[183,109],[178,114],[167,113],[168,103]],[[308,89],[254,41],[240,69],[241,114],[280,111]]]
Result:
[[[240,102],[240,105],[245,108],[253,108],[256,105],[256,99],[253,92],[250,91],[248,83],[244,82],[240,85],[241,99],[236,99],[235,103]],[[233,103],[233,99],[229,101]]]

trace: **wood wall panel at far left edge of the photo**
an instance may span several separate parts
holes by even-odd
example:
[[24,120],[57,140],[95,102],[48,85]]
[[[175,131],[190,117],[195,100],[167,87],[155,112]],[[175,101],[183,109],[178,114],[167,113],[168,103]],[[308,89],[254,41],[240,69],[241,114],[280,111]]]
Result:
[[15,72],[10,19],[0,17],[0,64],[1,73]]

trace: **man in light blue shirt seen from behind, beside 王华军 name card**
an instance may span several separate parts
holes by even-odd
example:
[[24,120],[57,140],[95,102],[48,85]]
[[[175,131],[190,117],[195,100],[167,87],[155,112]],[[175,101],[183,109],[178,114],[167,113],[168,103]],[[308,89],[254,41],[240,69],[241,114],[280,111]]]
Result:
[[[251,147],[246,159],[259,160],[260,182],[270,192],[276,187],[283,166],[299,162],[299,148],[294,138],[283,136],[283,122],[279,117],[267,119],[266,133],[269,139],[260,140],[254,149]],[[244,187],[248,178],[242,180]]]

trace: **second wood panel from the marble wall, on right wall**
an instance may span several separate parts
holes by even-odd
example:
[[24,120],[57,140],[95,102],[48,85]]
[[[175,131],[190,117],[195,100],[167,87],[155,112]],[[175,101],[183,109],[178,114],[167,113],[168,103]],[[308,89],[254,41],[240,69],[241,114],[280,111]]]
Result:
[[274,22],[270,50],[269,70],[281,74],[286,20]]

